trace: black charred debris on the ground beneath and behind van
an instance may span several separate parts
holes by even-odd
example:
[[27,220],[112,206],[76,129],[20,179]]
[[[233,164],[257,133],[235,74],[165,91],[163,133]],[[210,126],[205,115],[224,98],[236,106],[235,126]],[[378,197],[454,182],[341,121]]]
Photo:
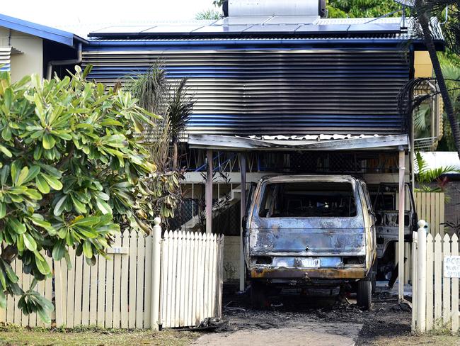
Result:
[[374,294],[371,311],[362,311],[352,299],[338,296],[281,295],[271,299],[265,310],[251,308],[247,294],[224,294],[223,318],[228,321],[218,332],[289,328],[308,323],[362,324],[358,345],[372,343],[376,337],[410,334],[410,309],[398,305],[388,292]]

